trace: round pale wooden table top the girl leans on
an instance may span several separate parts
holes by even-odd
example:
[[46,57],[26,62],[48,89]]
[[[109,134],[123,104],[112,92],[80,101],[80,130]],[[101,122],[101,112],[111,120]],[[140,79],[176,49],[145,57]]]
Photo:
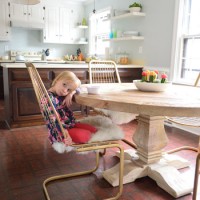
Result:
[[101,84],[100,94],[87,94],[86,84],[77,103],[91,107],[150,116],[200,117],[200,88],[172,85],[165,92],[139,91],[134,83]]

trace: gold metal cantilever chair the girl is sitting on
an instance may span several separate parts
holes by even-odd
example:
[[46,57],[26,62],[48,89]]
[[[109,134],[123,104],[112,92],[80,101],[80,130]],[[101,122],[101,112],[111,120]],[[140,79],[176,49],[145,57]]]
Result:
[[[63,128],[57,111],[55,110],[50,97],[48,95],[48,92],[40,78],[40,75],[35,68],[35,66],[32,63],[26,63],[26,67],[28,69],[33,88],[41,109],[41,113],[45,118],[45,121],[48,120],[48,123],[51,124],[52,127],[56,127],[57,130],[60,130],[60,132],[55,133],[57,134],[57,137],[64,137],[67,139],[69,137],[68,131]],[[61,134],[62,133],[62,134]],[[108,133],[109,134],[109,133]],[[61,142],[60,142],[61,143]],[[63,144],[62,144],[63,145]],[[115,200],[118,199],[123,191],[123,169],[124,169],[124,150],[123,147],[118,143],[118,141],[102,141],[102,142],[92,142],[87,144],[73,144],[72,147],[76,152],[87,152],[87,151],[96,151],[96,166],[93,169],[87,170],[87,171],[81,171],[76,173],[70,173],[70,174],[64,174],[64,175],[57,175],[50,178],[47,178],[43,182],[43,189],[45,196],[48,200],[50,200],[48,191],[47,191],[47,184],[51,181],[60,180],[63,178],[69,178],[69,177],[77,177],[82,175],[91,174],[92,172],[96,171],[99,165],[99,151],[101,149],[106,148],[118,148],[120,151],[120,166],[119,166],[119,192],[116,194],[116,196],[107,198],[107,200]],[[87,155],[86,155],[87,156]]]

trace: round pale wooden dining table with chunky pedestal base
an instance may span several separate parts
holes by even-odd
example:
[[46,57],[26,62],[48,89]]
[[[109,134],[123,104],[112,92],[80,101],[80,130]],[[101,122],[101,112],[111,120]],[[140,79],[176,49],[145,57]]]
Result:
[[[133,134],[137,149],[127,151],[123,183],[149,176],[175,198],[191,193],[193,180],[189,181],[178,170],[190,163],[163,150],[168,144],[164,120],[166,116],[200,117],[200,88],[172,84],[164,92],[147,92],[138,90],[134,83],[101,84],[100,87],[99,94],[88,94],[87,85],[82,85],[75,101],[90,107],[138,114],[138,126]],[[118,173],[117,164],[104,171],[103,177],[117,186]]]

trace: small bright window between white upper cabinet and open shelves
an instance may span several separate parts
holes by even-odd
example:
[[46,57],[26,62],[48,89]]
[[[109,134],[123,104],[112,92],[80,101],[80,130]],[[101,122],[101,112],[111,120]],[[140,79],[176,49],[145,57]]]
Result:
[[111,9],[104,9],[92,14],[90,17],[90,46],[89,54],[102,56],[105,55],[105,48],[109,47],[109,42],[102,41],[109,37],[111,32],[111,25],[108,16],[110,16]]

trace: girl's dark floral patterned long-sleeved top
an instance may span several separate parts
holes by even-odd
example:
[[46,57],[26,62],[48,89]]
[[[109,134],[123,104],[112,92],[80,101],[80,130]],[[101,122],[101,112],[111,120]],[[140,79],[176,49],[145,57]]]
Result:
[[[73,115],[73,112],[66,106],[62,105],[62,102],[65,97],[57,96],[52,92],[48,92],[49,97],[57,110],[57,113],[60,117],[60,121],[65,129],[73,128],[76,124],[76,119]],[[61,128],[59,126],[56,117],[53,115],[51,106],[48,104],[47,99],[41,99],[41,109],[42,114],[44,116],[46,126],[49,132],[49,140],[53,144],[54,142],[62,142],[64,136],[61,132]]]

